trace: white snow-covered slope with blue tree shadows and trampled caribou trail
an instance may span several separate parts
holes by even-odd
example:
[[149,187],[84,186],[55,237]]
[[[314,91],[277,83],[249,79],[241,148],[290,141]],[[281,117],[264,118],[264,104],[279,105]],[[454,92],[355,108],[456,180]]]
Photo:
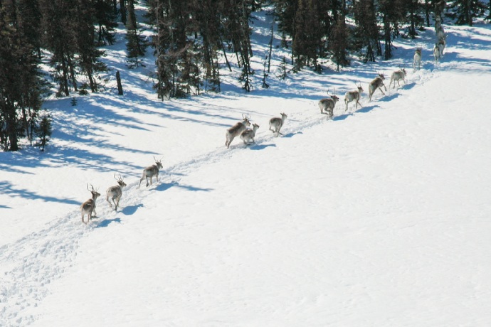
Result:
[[[234,72],[217,95],[160,102],[152,51],[127,70],[120,35],[105,60],[124,96],[111,76],[75,106],[48,100],[46,151],[0,154],[0,326],[488,326],[490,26],[445,25],[439,65],[428,29],[398,40],[394,60],[271,74],[263,90],[258,18],[253,92]],[[376,72],[400,65],[407,83],[369,102]],[[344,112],[357,81],[364,107]],[[329,87],[332,120],[317,107]],[[260,125],[256,143],[226,149],[242,114]],[[159,182],[137,188],[154,157]],[[115,172],[127,183],[117,212],[105,201]],[[102,195],[84,225],[87,183]]]

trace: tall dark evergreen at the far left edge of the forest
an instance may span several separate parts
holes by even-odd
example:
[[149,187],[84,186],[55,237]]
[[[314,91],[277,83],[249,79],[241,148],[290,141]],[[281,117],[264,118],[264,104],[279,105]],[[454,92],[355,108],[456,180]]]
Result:
[[30,136],[41,108],[43,80],[36,45],[21,16],[21,6],[0,0],[0,147],[19,150],[19,138]]

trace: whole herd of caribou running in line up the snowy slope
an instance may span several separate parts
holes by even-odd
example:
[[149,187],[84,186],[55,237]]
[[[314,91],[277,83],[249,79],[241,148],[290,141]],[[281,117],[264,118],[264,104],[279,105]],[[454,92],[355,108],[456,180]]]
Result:
[[[445,0],[440,0],[438,3],[435,4],[435,31],[436,31],[436,36],[438,38],[438,42],[435,43],[435,48],[433,49],[435,64],[440,62],[440,59],[443,55],[443,50],[445,49],[445,45],[446,45],[445,31],[443,31],[443,26],[441,24],[441,13],[443,12],[445,6],[446,6]],[[419,70],[421,68],[421,58],[422,58],[421,50],[422,50],[421,47],[416,48],[413,57],[413,70]],[[384,74],[378,73],[378,76],[376,76],[374,80],[372,80],[369,83],[369,101],[371,101],[371,97],[372,95],[374,95],[374,92],[376,90],[380,90],[380,92],[382,92],[382,94],[385,95],[384,91],[382,91],[381,89],[381,87],[384,87],[384,89],[387,91],[387,88],[384,85],[384,80],[385,80]],[[399,68],[399,70],[396,70],[392,73],[391,82],[389,83],[389,88],[391,87],[393,82],[394,82],[394,88],[396,87],[396,82],[397,85],[400,85],[399,84],[400,80],[406,82],[406,70],[404,68]],[[362,92],[364,92],[364,90],[363,87],[361,87],[361,82],[357,83],[357,90],[346,92],[346,94],[344,95],[345,112],[347,112],[348,110],[349,102],[355,102],[356,109],[358,109],[358,106],[362,107],[361,103],[359,102]],[[332,92],[332,94],[329,94],[329,90],[327,90],[327,94],[329,95],[329,97],[319,101],[319,108],[321,114],[327,114],[328,118],[332,119],[334,113],[334,107],[336,106],[339,97],[336,96],[335,89],[334,92]],[[248,146],[249,144],[253,144],[255,142],[254,141],[255,132],[258,130],[259,125],[253,124],[252,129],[248,128],[250,127],[250,116],[243,114],[242,118],[243,119],[241,122],[237,122],[235,125],[233,125],[232,127],[226,130],[225,146],[227,147],[227,149],[230,146],[233,139],[236,138],[236,136],[239,136],[242,139],[245,146]],[[280,129],[281,127],[283,127],[286,118],[287,118],[287,114],[285,114],[284,112],[280,114],[280,117],[271,118],[269,121],[270,131],[273,132],[273,134],[276,134],[276,136],[283,135],[280,133]],[[147,187],[149,185],[152,185],[152,178],[155,177],[157,182],[159,181],[159,170],[162,169],[162,159],[157,160],[154,157],[154,160],[155,160],[154,165],[144,168],[142,173],[142,178],[140,178],[139,180],[138,188],[140,187],[144,179],[147,181]],[[115,210],[117,210],[117,206],[120,203],[120,199],[122,195],[122,189],[126,186],[126,183],[123,181],[123,178],[120,174],[115,174],[114,178],[117,181],[117,185],[107,188],[106,201],[107,203],[109,203],[111,208],[112,205],[114,204]],[[85,201],[82,205],[80,205],[82,223],[85,224],[87,224],[90,221],[90,219],[95,217],[96,215],[95,200],[97,200],[97,198],[100,196],[100,193],[98,193],[97,190],[95,190],[91,184],[87,185],[87,189],[92,194],[92,197],[89,200]],[[87,221],[84,220],[85,215],[88,216]]]

